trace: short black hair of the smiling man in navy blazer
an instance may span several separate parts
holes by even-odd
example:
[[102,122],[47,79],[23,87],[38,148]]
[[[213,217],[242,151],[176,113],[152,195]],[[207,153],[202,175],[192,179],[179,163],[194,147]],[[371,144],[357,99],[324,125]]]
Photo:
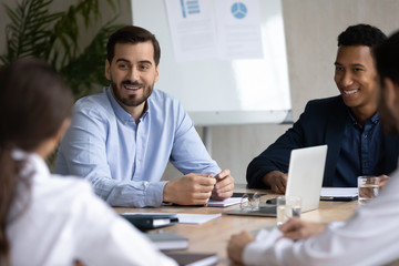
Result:
[[365,45],[372,48],[386,39],[387,35],[374,25],[356,24],[348,27],[338,35],[338,47]]

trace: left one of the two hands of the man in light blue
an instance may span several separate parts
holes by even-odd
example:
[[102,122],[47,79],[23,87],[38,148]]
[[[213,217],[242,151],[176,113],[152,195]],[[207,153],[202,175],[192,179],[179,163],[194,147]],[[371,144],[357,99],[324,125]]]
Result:
[[164,186],[163,201],[181,205],[205,205],[211,197],[215,178],[206,174],[187,174]]

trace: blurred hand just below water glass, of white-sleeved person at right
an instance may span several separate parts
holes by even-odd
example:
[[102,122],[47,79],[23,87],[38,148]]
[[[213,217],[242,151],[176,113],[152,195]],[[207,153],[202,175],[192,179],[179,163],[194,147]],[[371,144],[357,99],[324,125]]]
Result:
[[283,224],[278,229],[284,234],[284,237],[298,241],[318,235],[325,228],[326,226],[323,224],[305,222],[298,217],[293,217]]

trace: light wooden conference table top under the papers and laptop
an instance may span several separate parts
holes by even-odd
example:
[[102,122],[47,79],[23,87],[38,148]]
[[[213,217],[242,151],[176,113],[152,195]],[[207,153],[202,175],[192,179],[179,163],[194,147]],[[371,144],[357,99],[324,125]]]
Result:
[[[248,190],[245,185],[237,185],[235,192],[260,192],[267,195],[262,201],[275,197],[269,191]],[[357,201],[352,202],[325,202],[320,201],[318,209],[306,212],[301,217],[306,221],[329,223],[336,221],[346,221],[357,208]],[[237,208],[239,205],[229,207],[188,207],[188,206],[162,206],[160,208],[114,208],[117,213],[192,213],[192,214],[217,214],[221,217],[200,225],[176,224],[162,228],[163,232],[176,232],[190,239],[186,253],[216,253],[218,256],[217,265],[235,265],[227,258],[226,245],[232,234],[244,229],[256,231],[263,227],[276,225],[276,218],[237,216],[223,214],[226,209]],[[156,232],[156,231],[154,231]]]

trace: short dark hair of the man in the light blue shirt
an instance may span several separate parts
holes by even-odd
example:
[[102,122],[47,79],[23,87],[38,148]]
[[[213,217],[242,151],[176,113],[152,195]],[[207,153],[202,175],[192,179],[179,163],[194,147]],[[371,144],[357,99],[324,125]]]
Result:
[[161,58],[161,48],[160,43],[156,40],[155,35],[150,31],[136,27],[136,25],[126,25],[122,29],[114,32],[108,43],[106,43],[106,59],[111,63],[113,57],[115,55],[115,44],[116,43],[139,43],[151,41],[154,47],[154,62],[155,65],[158,65]]

